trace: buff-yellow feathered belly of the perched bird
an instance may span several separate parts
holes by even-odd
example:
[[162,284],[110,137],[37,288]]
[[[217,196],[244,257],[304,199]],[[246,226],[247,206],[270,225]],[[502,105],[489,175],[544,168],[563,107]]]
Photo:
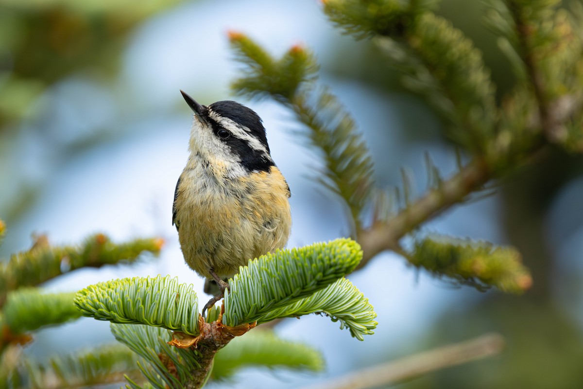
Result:
[[213,268],[221,277],[232,276],[248,260],[287,243],[287,197],[245,196],[215,188],[194,191],[180,205],[178,237],[185,261],[199,274],[210,278],[209,268]]

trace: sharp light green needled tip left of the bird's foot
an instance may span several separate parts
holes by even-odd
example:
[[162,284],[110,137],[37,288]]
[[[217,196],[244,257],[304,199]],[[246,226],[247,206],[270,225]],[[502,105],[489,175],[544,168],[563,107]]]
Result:
[[177,278],[124,278],[80,290],[75,305],[83,316],[122,324],[147,324],[198,335],[198,299]]

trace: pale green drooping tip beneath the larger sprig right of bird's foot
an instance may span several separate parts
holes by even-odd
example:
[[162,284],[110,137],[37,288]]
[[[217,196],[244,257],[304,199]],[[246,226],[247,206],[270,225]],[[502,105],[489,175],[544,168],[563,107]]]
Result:
[[272,310],[257,319],[266,323],[280,317],[299,317],[310,313],[325,314],[332,321],[340,322],[340,330],[348,328],[350,335],[363,341],[363,335],[374,334],[377,317],[373,306],[346,278],[341,278],[328,288],[280,309]]

